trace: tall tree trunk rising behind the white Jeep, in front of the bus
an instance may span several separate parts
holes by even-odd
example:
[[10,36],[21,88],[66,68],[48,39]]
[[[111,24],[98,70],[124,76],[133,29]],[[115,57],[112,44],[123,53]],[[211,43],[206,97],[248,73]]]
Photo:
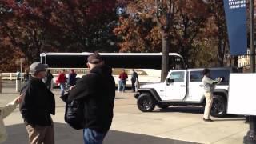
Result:
[[170,38],[169,34],[162,30],[162,71],[161,71],[161,82],[164,82],[169,71],[169,49],[170,49]]

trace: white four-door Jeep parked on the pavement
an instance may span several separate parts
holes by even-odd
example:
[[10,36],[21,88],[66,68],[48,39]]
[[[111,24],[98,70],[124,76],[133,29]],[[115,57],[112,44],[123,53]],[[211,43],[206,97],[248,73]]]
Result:
[[[155,106],[165,109],[169,106],[205,106],[202,85],[203,69],[170,70],[165,82],[142,85],[135,94],[138,109],[143,112],[154,110]],[[222,78],[214,90],[211,115],[226,115],[231,68],[210,68],[212,78]]]

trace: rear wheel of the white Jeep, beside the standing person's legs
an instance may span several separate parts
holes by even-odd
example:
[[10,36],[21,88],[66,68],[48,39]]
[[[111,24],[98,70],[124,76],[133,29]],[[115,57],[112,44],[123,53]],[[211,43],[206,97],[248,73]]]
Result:
[[226,115],[226,98],[223,98],[221,95],[214,95],[210,115],[213,117],[223,117]]

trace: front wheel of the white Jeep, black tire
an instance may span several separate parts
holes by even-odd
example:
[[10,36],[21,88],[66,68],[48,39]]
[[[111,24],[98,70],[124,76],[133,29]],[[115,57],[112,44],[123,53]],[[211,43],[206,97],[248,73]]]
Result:
[[138,109],[142,112],[150,112],[154,110],[154,98],[150,94],[141,94],[137,100]]

